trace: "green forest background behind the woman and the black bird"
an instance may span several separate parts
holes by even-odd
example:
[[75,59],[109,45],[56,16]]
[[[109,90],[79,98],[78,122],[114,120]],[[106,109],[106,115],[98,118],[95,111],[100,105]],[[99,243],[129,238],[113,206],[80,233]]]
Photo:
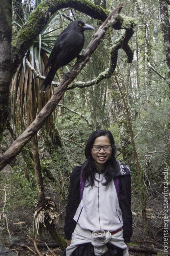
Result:
[[[118,3],[1,1],[0,241],[4,244],[12,244],[20,233],[35,237],[33,217],[41,234],[43,210],[46,229],[53,230],[51,236],[64,247],[69,176],[85,161],[84,148],[92,131],[108,129],[116,143],[116,160],[132,171],[132,241],[150,241],[162,248],[163,171],[168,171],[169,179],[170,164],[169,0],[126,1],[42,128],[27,144],[16,144],[10,151],[63,79],[61,69],[50,90],[39,93],[56,37],[74,19],[92,25],[96,32]],[[85,31],[84,49],[91,39],[93,31]],[[17,146],[17,156],[11,156]]]

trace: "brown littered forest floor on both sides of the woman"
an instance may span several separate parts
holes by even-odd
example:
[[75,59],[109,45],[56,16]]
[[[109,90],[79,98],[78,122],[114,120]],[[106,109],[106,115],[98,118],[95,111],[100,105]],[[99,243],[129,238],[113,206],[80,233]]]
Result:
[[[0,189],[3,192],[3,189]],[[1,193],[2,194],[2,193]],[[170,255],[163,253],[163,225],[164,219],[162,216],[162,204],[163,197],[161,191],[154,189],[152,187],[152,193],[147,196],[146,210],[147,210],[147,228],[148,235],[144,234],[143,222],[141,215],[141,202],[139,191],[132,191],[132,212],[133,212],[133,236],[131,238],[130,245],[135,247],[136,245],[140,248],[150,247],[161,250],[161,252],[146,253],[146,252],[135,252],[130,248],[130,255],[132,256],[156,256],[156,255]],[[2,194],[3,195],[3,194]],[[3,216],[3,206],[4,206],[4,196],[0,196],[0,212]],[[64,205],[63,205],[64,207]],[[54,240],[45,233],[43,236],[35,238],[33,235],[33,209],[28,206],[16,206],[6,214],[5,218],[0,220],[0,242],[10,248],[16,255],[19,256],[33,256],[38,255],[34,245],[33,240],[36,243],[55,243]],[[59,223],[56,225],[56,230],[58,233],[64,237],[64,217],[65,212],[60,215]],[[8,222],[8,225],[7,225]],[[7,227],[8,226],[8,227]],[[28,235],[31,237],[29,238]],[[170,236],[168,236],[170,240]],[[33,251],[30,251],[27,247],[21,246],[21,244],[28,243]],[[169,243],[168,243],[169,244]],[[134,246],[135,245],[135,246]],[[130,247],[131,247],[130,246]],[[170,248],[169,248],[170,249]],[[53,252],[51,253],[47,248],[39,248],[41,255],[57,255],[62,256],[63,251],[61,251],[58,246],[51,248]],[[169,250],[170,251],[170,250]],[[39,255],[40,255],[39,254]]]

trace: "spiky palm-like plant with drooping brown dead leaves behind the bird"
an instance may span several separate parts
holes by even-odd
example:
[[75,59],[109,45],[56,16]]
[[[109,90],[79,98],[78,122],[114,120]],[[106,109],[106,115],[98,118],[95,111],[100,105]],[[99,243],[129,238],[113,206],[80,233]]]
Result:
[[[24,13],[24,20],[21,19],[22,23],[15,21],[13,23],[17,27],[21,28],[25,24],[25,21],[28,20],[31,12],[36,8],[39,2],[41,2],[41,0],[28,0],[25,4],[21,4]],[[20,124],[21,129],[30,125],[30,123],[36,118],[37,112],[41,111],[54,92],[54,87],[51,86],[48,92],[39,93],[42,80],[35,78],[31,69],[29,69],[27,66],[25,59],[27,58],[29,60],[32,67],[35,68],[39,75],[44,74],[45,66],[48,62],[47,54],[51,53],[57,37],[57,35],[54,35],[54,31],[61,29],[61,27],[52,29],[56,23],[59,23],[59,17],[62,17],[61,12],[59,11],[51,16],[47,24],[43,27],[39,36],[35,39],[34,45],[31,46],[25,54],[25,57],[19,64],[13,78],[11,100],[13,102],[13,125],[15,123],[16,129],[18,124]],[[14,118],[15,113],[16,118]],[[53,112],[46,122],[50,137],[52,129],[54,129],[54,121],[55,112]]]

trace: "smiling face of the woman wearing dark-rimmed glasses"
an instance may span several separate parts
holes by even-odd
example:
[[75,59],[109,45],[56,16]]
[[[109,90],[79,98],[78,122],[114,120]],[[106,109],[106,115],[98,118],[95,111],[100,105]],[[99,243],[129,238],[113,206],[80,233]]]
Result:
[[[110,145],[110,141],[107,136],[100,136],[95,139],[93,145]],[[100,151],[94,151],[93,148],[91,148],[91,155],[94,159],[95,166],[99,171],[105,169],[106,162],[111,157],[111,150],[112,148],[110,149],[110,151],[104,151],[103,147],[101,147]]]

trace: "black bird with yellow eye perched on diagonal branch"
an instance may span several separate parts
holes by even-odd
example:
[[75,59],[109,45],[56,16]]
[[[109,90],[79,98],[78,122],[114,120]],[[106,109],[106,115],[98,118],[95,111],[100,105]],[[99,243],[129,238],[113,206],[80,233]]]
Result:
[[40,92],[49,90],[53,78],[59,68],[67,65],[74,58],[78,57],[85,43],[83,32],[86,29],[94,28],[81,20],[75,20],[58,36],[45,71],[47,68],[51,67],[51,69],[40,88]]

